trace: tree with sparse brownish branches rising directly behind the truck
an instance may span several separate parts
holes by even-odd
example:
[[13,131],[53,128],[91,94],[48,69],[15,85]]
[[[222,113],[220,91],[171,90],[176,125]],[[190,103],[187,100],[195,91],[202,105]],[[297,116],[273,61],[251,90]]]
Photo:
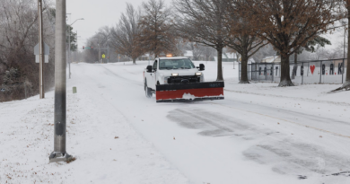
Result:
[[141,46],[155,57],[162,53],[178,53],[177,39],[171,22],[171,9],[164,0],[149,0],[143,3],[143,16],[139,22],[141,35],[138,38]]

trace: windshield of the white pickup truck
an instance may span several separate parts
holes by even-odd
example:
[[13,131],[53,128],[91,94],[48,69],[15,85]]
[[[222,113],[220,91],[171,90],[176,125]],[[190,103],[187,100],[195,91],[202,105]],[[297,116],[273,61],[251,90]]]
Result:
[[192,61],[188,58],[181,59],[160,59],[160,70],[173,70],[173,69],[192,69],[195,68]]

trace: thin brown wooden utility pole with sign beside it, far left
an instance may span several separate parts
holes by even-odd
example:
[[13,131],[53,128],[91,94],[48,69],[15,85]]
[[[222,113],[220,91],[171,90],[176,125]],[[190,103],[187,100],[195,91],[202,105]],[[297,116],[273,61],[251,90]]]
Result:
[[42,29],[42,0],[38,0],[38,17],[39,17],[39,98],[45,98],[44,91],[44,40]]

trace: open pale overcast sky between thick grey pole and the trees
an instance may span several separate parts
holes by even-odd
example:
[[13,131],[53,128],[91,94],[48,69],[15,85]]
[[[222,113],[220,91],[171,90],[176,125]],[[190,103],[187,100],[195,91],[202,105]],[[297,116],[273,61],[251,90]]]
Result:
[[[78,45],[82,49],[86,44],[86,39],[103,26],[114,26],[118,22],[120,13],[126,10],[126,4],[133,4],[135,7],[141,6],[144,0],[69,0],[66,1],[66,13],[68,22],[83,18],[84,21],[78,21],[73,24],[74,31],[78,31]],[[171,0],[165,0],[167,4]],[[71,16],[71,20],[69,20]]]

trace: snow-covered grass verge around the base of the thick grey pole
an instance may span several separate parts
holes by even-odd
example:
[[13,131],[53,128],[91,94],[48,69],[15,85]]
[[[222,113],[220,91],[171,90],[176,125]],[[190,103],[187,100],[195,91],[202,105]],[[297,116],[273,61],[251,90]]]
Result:
[[48,163],[53,92],[0,103],[0,183],[188,183],[99,96],[67,92],[67,152],[76,160]]

